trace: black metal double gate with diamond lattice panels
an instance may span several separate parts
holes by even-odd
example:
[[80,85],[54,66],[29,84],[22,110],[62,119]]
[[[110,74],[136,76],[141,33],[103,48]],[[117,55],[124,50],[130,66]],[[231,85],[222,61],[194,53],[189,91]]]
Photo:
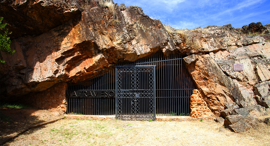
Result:
[[116,118],[155,120],[155,66],[116,66]]

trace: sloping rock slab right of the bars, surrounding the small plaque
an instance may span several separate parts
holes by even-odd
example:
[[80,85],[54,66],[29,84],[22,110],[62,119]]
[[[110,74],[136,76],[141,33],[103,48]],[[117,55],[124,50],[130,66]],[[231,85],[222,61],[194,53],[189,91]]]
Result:
[[[188,56],[184,61],[207,105],[219,114],[225,105],[232,102],[246,107],[257,105],[258,101],[268,108],[269,54],[270,43],[262,42],[206,55]],[[189,64],[190,57],[197,60]],[[242,63],[243,71],[234,71],[234,63]]]

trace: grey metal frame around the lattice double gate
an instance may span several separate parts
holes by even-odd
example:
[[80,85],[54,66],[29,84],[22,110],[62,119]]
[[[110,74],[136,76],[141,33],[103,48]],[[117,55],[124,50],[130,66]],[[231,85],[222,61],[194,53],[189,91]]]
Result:
[[[117,76],[117,68],[118,67],[154,67],[153,69],[153,99],[154,99],[154,121],[156,121],[156,65],[122,65],[122,66],[114,66],[115,67],[115,118],[117,119],[118,114],[118,76]],[[122,119],[121,119],[122,120]],[[136,120],[136,119],[135,119]]]

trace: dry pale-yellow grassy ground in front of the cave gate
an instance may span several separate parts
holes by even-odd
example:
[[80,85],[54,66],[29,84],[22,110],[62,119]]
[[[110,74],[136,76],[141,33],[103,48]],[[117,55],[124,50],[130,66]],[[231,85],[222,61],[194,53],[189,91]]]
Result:
[[[52,114],[52,113],[48,113]],[[5,145],[270,145],[270,126],[234,133],[214,121],[121,121],[65,118]]]

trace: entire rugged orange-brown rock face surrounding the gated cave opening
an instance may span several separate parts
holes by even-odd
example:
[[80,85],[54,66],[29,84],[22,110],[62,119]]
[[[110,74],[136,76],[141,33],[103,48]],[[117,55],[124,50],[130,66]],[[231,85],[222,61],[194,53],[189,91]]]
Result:
[[[178,30],[149,18],[137,6],[104,6],[98,0],[5,0],[0,7],[13,32],[11,49],[16,50],[14,55],[1,52],[6,61],[0,65],[1,101],[30,95],[23,100],[65,111],[66,82],[161,50],[164,55],[190,55],[184,64],[198,89],[191,97],[194,117],[269,110],[269,25]],[[242,63],[243,71],[234,71],[234,63]]]

